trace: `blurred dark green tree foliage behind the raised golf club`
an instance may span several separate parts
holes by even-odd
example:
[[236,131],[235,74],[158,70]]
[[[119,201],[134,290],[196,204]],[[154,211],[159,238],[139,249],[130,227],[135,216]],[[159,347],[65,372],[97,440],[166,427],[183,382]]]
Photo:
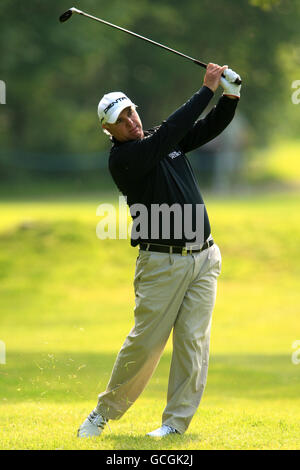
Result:
[[[300,63],[291,54],[279,60],[282,48],[295,47],[299,38],[299,2],[113,0],[100,8],[96,0],[82,0],[76,6],[192,57],[229,64],[243,78],[240,110],[256,143],[276,131],[290,102],[291,80],[283,68],[291,70],[292,60]],[[60,24],[59,15],[69,7],[66,0],[31,0],[20,2],[16,13],[14,2],[1,1],[0,78],[7,84],[7,104],[0,109],[2,150],[103,150],[108,142],[96,115],[103,93],[128,93],[149,127],[202,84],[202,69],[122,32],[78,16]],[[295,134],[298,127],[293,129]]]

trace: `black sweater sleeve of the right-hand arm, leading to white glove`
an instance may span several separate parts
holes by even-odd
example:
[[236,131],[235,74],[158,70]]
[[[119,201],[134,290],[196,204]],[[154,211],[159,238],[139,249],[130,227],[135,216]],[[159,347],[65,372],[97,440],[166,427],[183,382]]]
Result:
[[190,152],[221,134],[232,121],[238,101],[221,96],[208,115],[199,119],[180,141],[180,149],[184,153]]

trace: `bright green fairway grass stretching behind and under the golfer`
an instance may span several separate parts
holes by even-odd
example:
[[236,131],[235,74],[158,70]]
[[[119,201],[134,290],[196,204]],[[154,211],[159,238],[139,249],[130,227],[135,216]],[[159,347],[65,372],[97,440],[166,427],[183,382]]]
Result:
[[[137,249],[99,240],[110,196],[0,203],[1,449],[299,449],[300,194],[208,195],[223,256],[207,387],[185,435],[152,441],[171,338],[151,381],[100,438],[76,431],[133,326]],[[300,354],[299,354],[300,357]]]

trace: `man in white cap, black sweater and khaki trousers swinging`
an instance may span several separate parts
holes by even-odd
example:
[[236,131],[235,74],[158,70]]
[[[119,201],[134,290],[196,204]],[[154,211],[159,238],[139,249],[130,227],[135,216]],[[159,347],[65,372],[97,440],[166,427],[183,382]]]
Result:
[[[133,217],[131,244],[139,247],[135,324],[117,356],[106,390],[80,426],[78,437],[99,436],[108,420],[119,419],[128,410],[151,378],[172,330],[167,404],[161,427],[147,435],[183,434],[199,406],[206,384],[221,254],[185,154],[214,139],[231,122],[240,98],[236,78],[239,75],[227,66],[208,64],[200,90],[161,125],[147,131],[136,105],[123,93],[106,94],[99,103],[102,128],[112,141],[109,169],[127,197]],[[223,95],[199,119],[220,84]],[[157,227],[152,209],[163,204],[182,212],[191,209],[188,230],[186,221],[175,223],[175,212],[169,217],[167,231]],[[136,207],[148,210],[143,224]],[[197,218],[197,214],[202,216]]]

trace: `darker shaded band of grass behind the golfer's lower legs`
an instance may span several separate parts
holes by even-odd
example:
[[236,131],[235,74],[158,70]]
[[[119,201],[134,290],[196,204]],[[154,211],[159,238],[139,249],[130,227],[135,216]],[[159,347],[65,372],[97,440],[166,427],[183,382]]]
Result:
[[[1,400],[79,402],[97,400],[106,388],[116,355],[7,352],[0,365]],[[171,355],[165,353],[143,397],[165,402]],[[257,400],[299,399],[300,375],[285,355],[215,355],[206,395]],[[3,402],[2,402],[3,403]]]

